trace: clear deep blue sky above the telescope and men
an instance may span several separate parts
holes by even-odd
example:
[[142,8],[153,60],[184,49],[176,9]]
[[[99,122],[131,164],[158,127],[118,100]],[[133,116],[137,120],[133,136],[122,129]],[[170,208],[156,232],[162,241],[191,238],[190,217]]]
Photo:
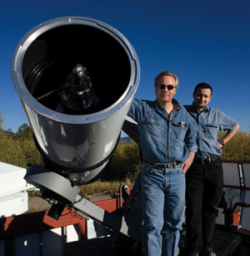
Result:
[[213,87],[210,106],[250,132],[250,0],[43,0],[0,3],[2,128],[28,123],[11,78],[11,60],[28,31],[52,18],[82,16],[111,25],[133,45],[140,62],[136,97],[155,100],[153,80],[178,75],[175,99],[192,104],[196,84]]

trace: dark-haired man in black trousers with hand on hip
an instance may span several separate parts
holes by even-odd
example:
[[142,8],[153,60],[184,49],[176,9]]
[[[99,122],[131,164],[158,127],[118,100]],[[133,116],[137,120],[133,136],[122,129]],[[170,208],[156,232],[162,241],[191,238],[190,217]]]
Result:
[[[213,89],[198,84],[193,105],[185,106],[198,128],[198,152],[186,173],[186,226],[188,255],[216,256],[213,251],[213,229],[218,203],[223,194],[221,148],[238,131],[238,123],[218,109],[208,107]],[[228,131],[218,141],[218,131]]]

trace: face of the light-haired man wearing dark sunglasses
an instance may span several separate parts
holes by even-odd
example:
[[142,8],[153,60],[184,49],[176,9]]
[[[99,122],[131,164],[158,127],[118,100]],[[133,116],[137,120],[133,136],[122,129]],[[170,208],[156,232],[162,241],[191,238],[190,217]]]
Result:
[[[168,85],[173,85],[173,90],[169,90],[167,87]],[[161,89],[160,87],[163,87],[163,89]],[[172,102],[173,95],[175,95],[176,93],[175,79],[173,78],[173,76],[164,75],[160,79],[158,79],[158,84],[155,88],[155,92],[157,95],[157,100],[160,104],[164,105],[166,103]]]

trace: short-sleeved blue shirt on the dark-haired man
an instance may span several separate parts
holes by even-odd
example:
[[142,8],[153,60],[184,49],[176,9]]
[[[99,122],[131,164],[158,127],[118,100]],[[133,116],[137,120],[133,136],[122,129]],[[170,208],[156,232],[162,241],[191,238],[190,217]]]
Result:
[[220,156],[218,148],[218,131],[233,131],[237,122],[221,110],[207,107],[203,112],[196,110],[194,105],[184,105],[192,116],[198,129],[197,157]]

